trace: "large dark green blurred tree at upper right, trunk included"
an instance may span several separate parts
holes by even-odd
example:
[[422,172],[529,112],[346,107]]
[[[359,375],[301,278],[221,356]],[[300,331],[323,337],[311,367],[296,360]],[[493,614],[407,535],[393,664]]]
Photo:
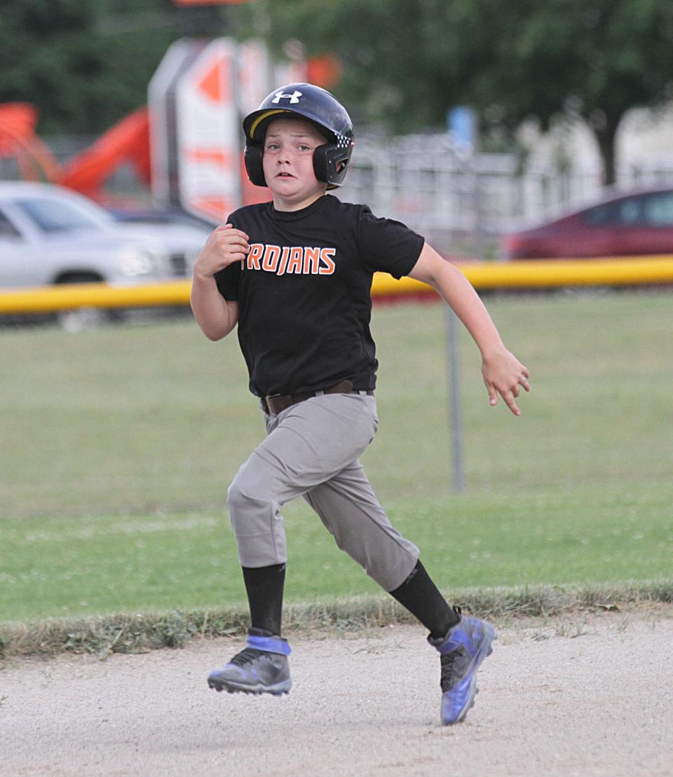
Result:
[[[469,104],[510,133],[561,113],[595,134],[605,183],[627,110],[673,96],[671,0],[254,0],[277,50],[300,38],[343,64],[336,91],[396,131],[443,127]],[[262,25],[259,20],[268,17]]]

